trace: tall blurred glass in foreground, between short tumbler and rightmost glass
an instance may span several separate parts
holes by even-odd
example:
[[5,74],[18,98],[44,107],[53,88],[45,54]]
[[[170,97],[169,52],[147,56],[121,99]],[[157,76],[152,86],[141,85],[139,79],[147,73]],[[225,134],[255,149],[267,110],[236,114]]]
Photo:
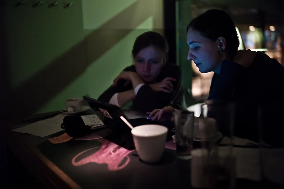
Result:
[[233,153],[234,106],[224,101],[210,100],[201,105],[201,117],[204,119],[199,119],[199,127],[203,130],[209,129],[204,121],[206,118],[215,119],[216,124],[215,128],[211,129],[215,134],[211,133],[209,137],[204,134],[203,138],[201,136],[201,143],[208,150],[204,187],[232,189],[236,180],[236,158]]

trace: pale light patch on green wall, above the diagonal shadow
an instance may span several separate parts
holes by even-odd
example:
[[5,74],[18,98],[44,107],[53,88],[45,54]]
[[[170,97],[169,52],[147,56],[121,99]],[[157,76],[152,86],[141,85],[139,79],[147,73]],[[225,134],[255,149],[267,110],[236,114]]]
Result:
[[82,0],[83,29],[96,29],[137,0]]

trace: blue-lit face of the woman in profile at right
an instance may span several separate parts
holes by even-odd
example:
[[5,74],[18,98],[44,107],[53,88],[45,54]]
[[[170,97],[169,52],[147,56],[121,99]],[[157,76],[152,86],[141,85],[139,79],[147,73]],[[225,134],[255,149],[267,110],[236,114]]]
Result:
[[218,52],[218,41],[203,37],[198,31],[189,28],[187,32],[188,60],[193,60],[201,73],[219,73],[222,55]]

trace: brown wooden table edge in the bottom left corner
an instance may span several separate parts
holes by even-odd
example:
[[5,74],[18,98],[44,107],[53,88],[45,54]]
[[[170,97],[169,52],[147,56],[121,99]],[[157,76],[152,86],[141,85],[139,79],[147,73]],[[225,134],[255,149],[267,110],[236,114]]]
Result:
[[[20,133],[4,128],[4,140],[9,149],[24,163],[43,186],[46,187],[47,184],[50,187],[53,186],[53,188],[82,189],[60,168],[41,154],[35,146],[21,136]],[[32,168],[36,165],[38,167]]]

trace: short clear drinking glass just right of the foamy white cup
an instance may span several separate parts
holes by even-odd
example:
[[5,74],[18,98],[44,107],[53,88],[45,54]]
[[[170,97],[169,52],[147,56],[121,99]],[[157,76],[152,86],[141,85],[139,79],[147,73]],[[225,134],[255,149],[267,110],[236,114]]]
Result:
[[190,159],[193,144],[194,112],[175,110],[173,114],[178,158]]

